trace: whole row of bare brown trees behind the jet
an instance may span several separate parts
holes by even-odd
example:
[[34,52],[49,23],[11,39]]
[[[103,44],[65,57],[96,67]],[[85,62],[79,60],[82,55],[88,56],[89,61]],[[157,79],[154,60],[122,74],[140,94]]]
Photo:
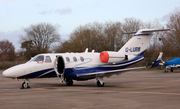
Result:
[[86,48],[96,52],[118,51],[133,36],[124,33],[144,28],[172,29],[154,33],[145,57],[154,57],[160,51],[165,57],[180,57],[180,12],[177,12],[171,15],[166,25],[135,18],[125,18],[122,22],[88,23],[75,28],[65,41],[61,40],[58,28],[50,23],[30,25],[20,36],[21,49],[17,52],[12,42],[0,41],[0,62],[29,60],[40,53],[83,52]]

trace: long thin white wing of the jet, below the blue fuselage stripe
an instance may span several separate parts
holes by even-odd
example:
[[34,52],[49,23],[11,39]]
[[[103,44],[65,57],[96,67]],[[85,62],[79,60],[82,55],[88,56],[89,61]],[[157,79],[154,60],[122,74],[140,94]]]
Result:
[[126,72],[126,71],[130,71],[130,70],[138,70],[138,69],[144,69],[144,68],[147,68],[146,66],[144,67],[135,67],[135,68],[126,68],[126,69],[118,69],[118,70],[109,70],[109,71],[100,71],[100,72],[93,72],[93,73],[84,73],[84,74],[77,74],[77,77],[98,77],[98,76],[101,76],[101,77],[110,77],[114,74],[116,75],[119,75],[121,74],[122,72]]

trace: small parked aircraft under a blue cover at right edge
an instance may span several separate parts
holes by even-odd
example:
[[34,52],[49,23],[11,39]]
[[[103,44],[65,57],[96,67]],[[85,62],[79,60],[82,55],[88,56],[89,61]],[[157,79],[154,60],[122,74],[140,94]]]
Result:
[[168,69],[170,69],[170,71],[173,72],[175,68],[180,68],[180,58],[174,58],[166,62],[163,61],[163,63],[160,64],[165,66],[164,72],[168,72]]

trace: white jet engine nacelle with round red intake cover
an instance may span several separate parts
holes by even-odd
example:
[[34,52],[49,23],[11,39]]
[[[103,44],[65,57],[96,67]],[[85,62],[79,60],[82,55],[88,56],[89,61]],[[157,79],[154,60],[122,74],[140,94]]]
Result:
[[127,55],[122,55],[119,52],[103,51],[100,53],[100,60],[103,63],[116,63],[124,60],[128,60]]

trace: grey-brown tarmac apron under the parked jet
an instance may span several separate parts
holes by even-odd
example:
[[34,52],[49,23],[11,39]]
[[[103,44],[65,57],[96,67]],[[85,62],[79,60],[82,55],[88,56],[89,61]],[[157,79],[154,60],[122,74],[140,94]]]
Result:
[[[2,71],[0,71],[0,74]],[[32,79],[30,89],[20,89],[23,80],[0,75],[0,109],[179,109],[180,71],[130,71],[95,80],[74,81],[73,86],[57,78]]]

